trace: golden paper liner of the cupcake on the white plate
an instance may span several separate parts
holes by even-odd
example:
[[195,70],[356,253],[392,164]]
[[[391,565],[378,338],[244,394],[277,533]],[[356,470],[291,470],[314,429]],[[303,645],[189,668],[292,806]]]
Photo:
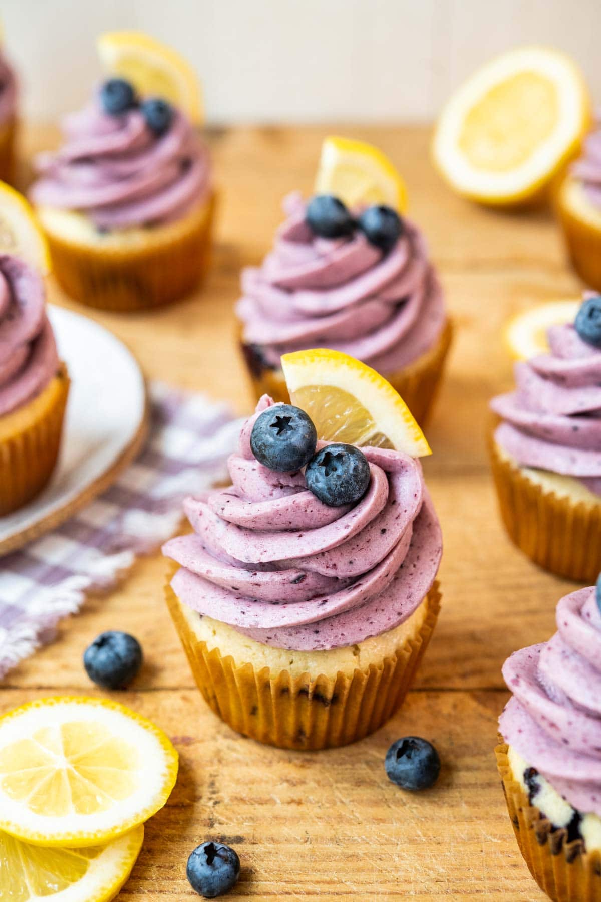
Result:
[[68,387],[63,366],[37,398],[0,418],[0,516],[32,501],[50,480],[59,456]]

